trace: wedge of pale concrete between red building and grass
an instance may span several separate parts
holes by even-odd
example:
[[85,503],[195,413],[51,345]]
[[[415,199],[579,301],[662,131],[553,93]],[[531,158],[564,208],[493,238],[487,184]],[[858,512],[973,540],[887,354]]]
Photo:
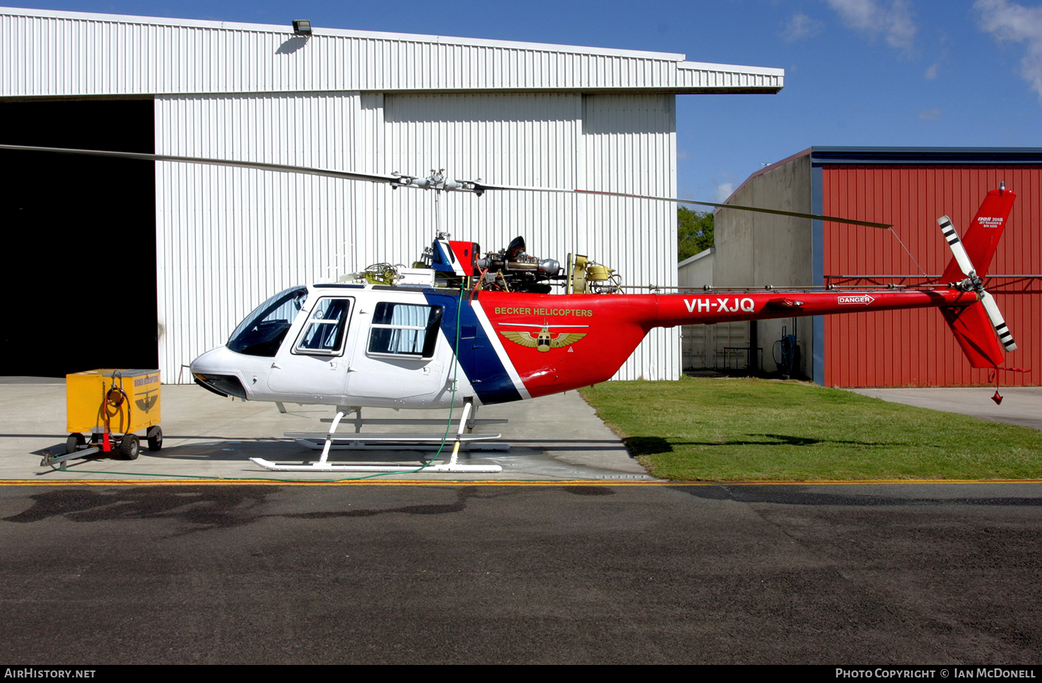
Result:
[[1001,405],[991,399],[994,387],[931,387],[924,389],[851,389],[854,393],[895,404],[972,415],[1042,430],[1042,387],[1000,387]]

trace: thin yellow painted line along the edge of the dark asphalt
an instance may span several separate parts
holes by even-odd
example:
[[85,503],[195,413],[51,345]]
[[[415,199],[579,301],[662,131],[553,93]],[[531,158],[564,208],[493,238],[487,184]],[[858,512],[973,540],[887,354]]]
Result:
[[75,479],[75,480],[0,480],[0,486],[859,486],[882,484],[1042,484],[1042,479],[866,479],[826,481],[743,481],[743,482],[674,482],[627,480],[342,480],[305,481],[272,479]]

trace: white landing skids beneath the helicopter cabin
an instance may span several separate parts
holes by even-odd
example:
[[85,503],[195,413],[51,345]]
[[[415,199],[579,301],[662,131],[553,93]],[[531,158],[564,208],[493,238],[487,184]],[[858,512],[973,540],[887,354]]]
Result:
[[[452,439],[452,456],[447,463],[429,464],[426,467],[413,465],[362,465],[362,464],[333,464],[328,462],[329,450],[337,449],[374,449],[380,450],[437,450],[443,448],[443,444],[448,445],[448,439],[444,434],[351,434],[337,435],[337,428],[345,415],[345,410],[338,408],[337,416],[332,420],[328,434],[294,434],[286,436],[296,439],[297,443],[308,448],[322,448],[322,457],[316,463],[297,465],[274,463],[263,458],[250,458],[250,460],[265,469],[278,472],[474,472],[494,473],[503,470],[499,465],[465,465],[457,462],[460,447],[464,444],[471,444],[476,441],[487,441],[498,439],[501,434],[464,434],[464,430],[474,425],[471,412],[474,404],[471,400],[464,403],[463,415],[460,417],[460,425],[455,437]],[[361,428],[361,410],[355,421],[356,430]],[[470,418],[470,419],[468,419]],[[321,445],[320,445],[321,442]],[[336,444],[336,445],[334,445]],[[488,449],[505,450],[508,444],[473,444],[470,447],[485,446]],[[482,449],[485,449],[482,448]]]

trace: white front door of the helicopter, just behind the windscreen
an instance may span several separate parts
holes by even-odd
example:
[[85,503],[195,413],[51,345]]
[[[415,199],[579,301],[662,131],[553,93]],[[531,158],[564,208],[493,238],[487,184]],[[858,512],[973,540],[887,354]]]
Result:
[[354,299],[323,296],[315,303],[296,338],[287,337],[268,379],[269,388],[309,401],[339,403],[347,385],[345,348],[351,337]]

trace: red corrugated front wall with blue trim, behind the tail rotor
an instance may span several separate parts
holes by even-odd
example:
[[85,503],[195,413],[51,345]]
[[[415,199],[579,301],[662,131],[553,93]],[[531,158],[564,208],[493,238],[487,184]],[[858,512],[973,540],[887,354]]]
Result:
[[[808,221],[810,284],[817,286],[913,285],[940,277],[951,252],[936,219],[949,216],[962,235],[986,193],[1004,181],[1017,200],[985,286],[1019,346],[1007,355],[1006,367],[1028,371],[1002,371],[999,381],[1042,384],[1042,149],[812,147],[756,173],[743,188],[755,193],[758,181],[771,182],[772,170],[790,165],[797,176],[810,171],[809,184],[788,187],[793,193],[810,190],[812,213],[894,225],[883,230]],[[791,196],[788,203],[808,204],[805,196]],[[811,346],[805,371],[825,386],[989,383],[989,371],[970,368],[936,310],[817,317],[813,339],[802,343]]]

